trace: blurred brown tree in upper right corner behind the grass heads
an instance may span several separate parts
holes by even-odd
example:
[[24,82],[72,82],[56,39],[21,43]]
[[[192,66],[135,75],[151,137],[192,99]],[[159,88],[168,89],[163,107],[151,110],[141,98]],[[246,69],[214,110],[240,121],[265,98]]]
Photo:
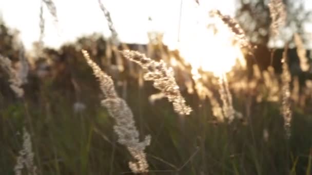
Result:
[[[294,34],[298,33],[305,46],[312,46],[312,31],[306,31],[305,26],[312,24],[312,11],[308,10],[304,0],[284,0],[286,5],[286,24],[280,30],[277,38],[270,36],[271,18],[267,0],[236,0],[236,18],[246,32],[253,45],[257,46],[255,56],[260,63],[261,69],[272,65],[277,72],[281,72],[281,58],[283,47],[289,43],[288,51],[290,70],[295,75],[308,76],[311,78],[311,70],[302,74],[299,67],[299,59],[294,43]],[[275,42],[279,40],[282,45]],[[311,61],[311,52],[307,49],[307,57]],[[307,75],[308,74],[308,75]]]

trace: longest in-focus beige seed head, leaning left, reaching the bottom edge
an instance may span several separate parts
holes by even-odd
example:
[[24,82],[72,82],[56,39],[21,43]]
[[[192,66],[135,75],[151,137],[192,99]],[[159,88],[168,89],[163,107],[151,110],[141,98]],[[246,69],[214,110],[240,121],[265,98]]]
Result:
[[113,80],[91,60],[87,51],[82,50],[82,53],[92,68],[94,76],[100,81],[100,88],[106,97],[101,104],[107,108],[111,117],[115,119],[114,132],[119,137],[118,142],[125,145],[136,160],[135,162],[129,162],[130,169],[134,173],[148,172],[148,163],[144,150],[150,144],[150,136],[146,136],[145,140],[140,142],[132,111],[126,101],[117,95]]

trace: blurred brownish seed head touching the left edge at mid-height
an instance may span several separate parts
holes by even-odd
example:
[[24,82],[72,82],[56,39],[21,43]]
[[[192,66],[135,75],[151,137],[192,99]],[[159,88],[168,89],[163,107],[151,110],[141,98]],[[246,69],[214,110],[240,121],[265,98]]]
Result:
[[21,88],[23,80],[18,72],[13,69],[11,60],[0,54],[0,66],[9,75],[9,82],[11,83],[10,88],[14,91],[17,97],[23,97],[24,90]]

